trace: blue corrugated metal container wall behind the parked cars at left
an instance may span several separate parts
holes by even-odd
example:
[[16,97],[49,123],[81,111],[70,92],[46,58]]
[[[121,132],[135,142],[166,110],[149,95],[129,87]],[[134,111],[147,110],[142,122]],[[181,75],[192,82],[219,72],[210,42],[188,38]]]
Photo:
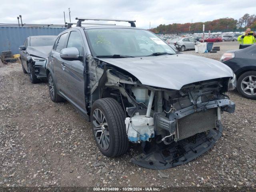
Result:
[[4,27],[0,26],[0,55],[2,51],[19,54],[19,46],[28,36],[58,35],[65,27]]

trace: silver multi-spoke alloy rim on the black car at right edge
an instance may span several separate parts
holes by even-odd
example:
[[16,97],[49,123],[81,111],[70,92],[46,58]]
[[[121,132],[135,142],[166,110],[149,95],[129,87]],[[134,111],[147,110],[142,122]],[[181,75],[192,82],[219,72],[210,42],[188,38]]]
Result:
[[247,95],[256,95],[256,76],[247,76],[241,82],[242,91]]

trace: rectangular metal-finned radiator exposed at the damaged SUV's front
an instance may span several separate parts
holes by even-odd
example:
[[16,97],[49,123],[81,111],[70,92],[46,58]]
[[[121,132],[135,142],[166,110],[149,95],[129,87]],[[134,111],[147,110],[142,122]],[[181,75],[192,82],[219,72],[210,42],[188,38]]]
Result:
[[177,120],[176,139],[182,140],[213,128],[216,128],[216,108],[195,112]]

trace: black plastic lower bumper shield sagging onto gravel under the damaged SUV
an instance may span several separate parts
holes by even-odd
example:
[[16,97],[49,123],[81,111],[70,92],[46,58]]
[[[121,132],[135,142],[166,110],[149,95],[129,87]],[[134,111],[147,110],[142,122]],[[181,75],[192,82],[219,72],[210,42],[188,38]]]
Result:
[[210,150],[221,135],[222,125],[219,124],[218,130],[198,134],[196,142],[184,139],[170,145],[156,144],[154,151],[142,153],[131,160],[139,166],[158,170],[186,164]]

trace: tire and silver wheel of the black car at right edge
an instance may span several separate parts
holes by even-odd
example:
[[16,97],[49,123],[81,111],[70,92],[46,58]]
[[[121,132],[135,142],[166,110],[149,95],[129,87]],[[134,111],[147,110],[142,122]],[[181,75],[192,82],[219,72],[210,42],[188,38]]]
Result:
[[256,71],[248,71],[237,80],[237,90],[245,98],[256,100]]

